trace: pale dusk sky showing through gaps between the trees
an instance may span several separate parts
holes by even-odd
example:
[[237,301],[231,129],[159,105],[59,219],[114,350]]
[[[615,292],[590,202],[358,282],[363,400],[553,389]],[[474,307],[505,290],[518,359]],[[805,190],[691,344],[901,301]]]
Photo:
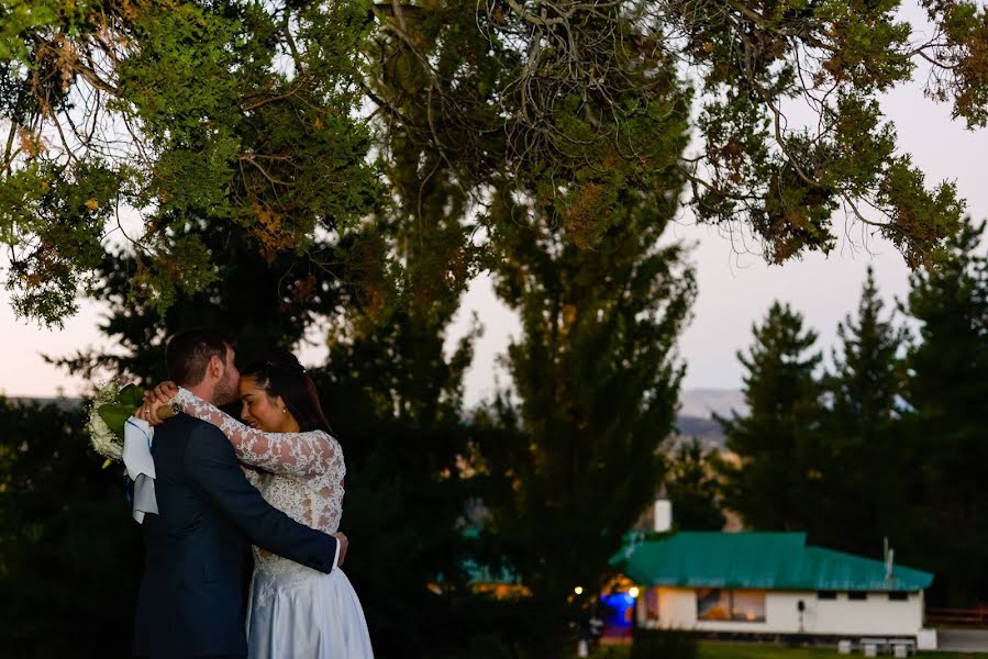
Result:
[[[967,199],[969,213],[976,219],[988,215],[988,131],[969,132],[963,122],[952,121],[951,107],[924,99],[917,83],[889,93],[882,109],[896,123],[900,148],[913,155],[928,181],[955,180],[959,194]],[[908,288],[909,271],[895,247],[872,239],[865,250],[858,226],[848,228],[851,239],[842,241],[830,257],[814,254],[784,266],[767,266],[757,256],[739,255],[715,230],[695,226],[686,217],[673,232],[697,245],[692,259],[699,298],[692,324],[679,342],[688,369],[684,382],[687,389],[741,387],[735,353],[751,344],[752,323],[765,315],[773,300],[790,302],[801,311],[807,323],[820,333],[820,347],[829,351],[836,340],[837,322],[856,309],[868,264],[875,267],[879,288],[890,302],[903,297]],[[493,391],[496,373],[500,373],[501,384],[507,384],[497,356],[503,354],[509,337],[519,333],[517,319],[498,302],[486,278],[475,281],[464,298],[451,337],[463,333],[471,311],[478,313],[486,330],[467,373],[468,403]],[[76,395],[82,382],[44,364],[41,355],[107,345],[97,331],[99,317],[96,304],[84,303],[82,311],[67,321],[63,331],[46,331],[16,320],[9,297],[0,291],[0,392],[12,396]],[[309,347],[300,354],[303,361],[315,365],[323,351]]]

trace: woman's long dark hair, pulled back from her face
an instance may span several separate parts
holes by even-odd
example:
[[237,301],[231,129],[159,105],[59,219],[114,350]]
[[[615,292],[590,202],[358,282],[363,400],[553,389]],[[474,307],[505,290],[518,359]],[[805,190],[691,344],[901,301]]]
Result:
[[319,392],[312,378],[299,364],[298,358],[288,350],[280,348],[267,350],[258,359],[242,368],[241,377],[253,379],[270,396],[280,395],[303,433],[323,431],[332,434],[330,422],[326,421],[319,403]]

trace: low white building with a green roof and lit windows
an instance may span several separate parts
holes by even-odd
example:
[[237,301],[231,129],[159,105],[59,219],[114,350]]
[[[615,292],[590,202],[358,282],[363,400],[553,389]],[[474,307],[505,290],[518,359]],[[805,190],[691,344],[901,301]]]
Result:
[[620,562],[637,584],[641,627],[931,645],[923,591],[933,574],[807,546],[803,533],[654,534]]

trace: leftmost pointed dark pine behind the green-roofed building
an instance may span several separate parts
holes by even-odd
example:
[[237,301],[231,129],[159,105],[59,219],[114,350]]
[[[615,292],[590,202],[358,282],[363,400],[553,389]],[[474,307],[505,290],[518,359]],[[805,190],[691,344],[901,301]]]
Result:
[[755,342],[737,357],[747,370],[747,411],[718,417],[740,463],[723,462],[724,505],[759,530],[806,529],[818,504],[821,387],[817,333],[802,315],[774,303]]

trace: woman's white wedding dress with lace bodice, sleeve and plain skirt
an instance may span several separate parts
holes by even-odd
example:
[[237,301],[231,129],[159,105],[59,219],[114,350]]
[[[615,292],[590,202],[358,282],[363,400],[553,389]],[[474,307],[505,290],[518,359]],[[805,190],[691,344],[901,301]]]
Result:
[[[218,426],[264,499],[296,522],[328,534],[343,514],[343,450],[322,431],[264,433],[180,389],[182,412]],[[249,659],[371,659],[357,593],[343,570],[329,574],[254,547],[247,610]]]

